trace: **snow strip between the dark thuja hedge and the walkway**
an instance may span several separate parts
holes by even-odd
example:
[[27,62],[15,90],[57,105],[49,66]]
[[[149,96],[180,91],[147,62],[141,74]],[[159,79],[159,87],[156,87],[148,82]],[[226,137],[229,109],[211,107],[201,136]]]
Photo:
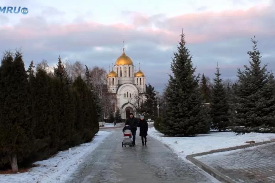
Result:
[[71,148],[71,150],[60,151],[55,156],[37,161],[34,164],[40,166],[31,168],[29,172],[19,174],[0,174],[1,183],[54,183],[63,182],[82,163],[85,156],[91,153],[102,140],[111,132],[99,131],[95,138],[89,142]]

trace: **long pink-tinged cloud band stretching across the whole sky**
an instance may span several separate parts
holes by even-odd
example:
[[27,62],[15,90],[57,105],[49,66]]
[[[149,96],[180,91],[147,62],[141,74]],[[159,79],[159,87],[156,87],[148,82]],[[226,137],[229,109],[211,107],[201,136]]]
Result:
[[[56,44],[56,40],[73,46],[101,46],[117,44],[125,39],[152,41],[157,44],[176,44],[183,28],[187,43],[203,43],[226,40],[232,37],[275,35],[275,17],[271,6],[253,7],[248,10],[201,12],[176,17],[162,14],[145,16],[127,12],[132,24],[100,24],[97,22],[74,22],[49,24],[43,17],[21,19],[14,27],[0,27],[5,40],[36,40],[39,45]],[[154,25],[156,28],[153,28]],[[142,27],[142,29],[140,29]],[[60,43],[61,44],[61,43]],[[32,45],[30,45],[32,46]]]

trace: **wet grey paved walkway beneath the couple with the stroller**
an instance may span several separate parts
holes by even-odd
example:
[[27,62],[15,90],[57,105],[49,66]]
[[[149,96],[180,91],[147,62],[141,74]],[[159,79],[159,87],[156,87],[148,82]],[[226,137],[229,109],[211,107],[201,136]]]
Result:
[[115,130],[85,159],[66,182],[127,183],[217,183],[218,181],[179,159],[158,140],[148,137],[142,146],[137,133],[137,146],[122,148],[122,131]]

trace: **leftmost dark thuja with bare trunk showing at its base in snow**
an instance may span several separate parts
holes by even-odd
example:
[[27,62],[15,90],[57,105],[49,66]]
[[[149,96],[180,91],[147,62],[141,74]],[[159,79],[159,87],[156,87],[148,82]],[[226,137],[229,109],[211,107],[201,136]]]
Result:
[[12,171],[33,147],[30,87],[22,53],[6,52],[1,61],[0,149],[8,155]]

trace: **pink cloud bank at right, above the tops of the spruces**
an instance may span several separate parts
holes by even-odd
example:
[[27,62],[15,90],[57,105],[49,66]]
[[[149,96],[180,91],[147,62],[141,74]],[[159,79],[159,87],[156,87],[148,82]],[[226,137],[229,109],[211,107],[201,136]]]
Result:
[[275,35],[275,17],[271,6],[248,10],[184,14],[156,22],[160,29],[177,31],[183,28],[189,43],[221,40],[228,37]]

